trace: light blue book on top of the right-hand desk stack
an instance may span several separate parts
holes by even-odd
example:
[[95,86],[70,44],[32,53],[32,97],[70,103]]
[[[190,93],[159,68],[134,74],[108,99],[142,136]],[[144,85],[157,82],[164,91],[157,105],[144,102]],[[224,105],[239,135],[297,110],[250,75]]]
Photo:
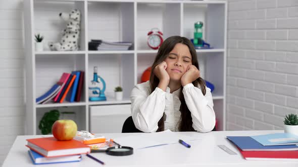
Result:
[[298,144],[298,136],[291,133],[273,133],[251,137],[257,140],[262,145]]

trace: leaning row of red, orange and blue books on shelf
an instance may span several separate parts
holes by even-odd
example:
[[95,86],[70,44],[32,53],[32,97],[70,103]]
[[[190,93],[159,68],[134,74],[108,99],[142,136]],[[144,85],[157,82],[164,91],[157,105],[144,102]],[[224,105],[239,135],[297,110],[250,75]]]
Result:
[[68,102],[79,102],[84,84],[84,71],[64,72],[60,80],[53,85],[46,93],[36,98],[36,104],[48,102],[62,103],[65,99]]

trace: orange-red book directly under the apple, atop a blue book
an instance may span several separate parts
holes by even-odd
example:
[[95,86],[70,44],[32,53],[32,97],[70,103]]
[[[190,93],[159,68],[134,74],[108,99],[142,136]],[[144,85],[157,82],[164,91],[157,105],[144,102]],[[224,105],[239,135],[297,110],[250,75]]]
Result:
[[90,153],[90,147],[77,140],[58,141],[55,137],[41,137],[27,141],[27,147],[45,157]]

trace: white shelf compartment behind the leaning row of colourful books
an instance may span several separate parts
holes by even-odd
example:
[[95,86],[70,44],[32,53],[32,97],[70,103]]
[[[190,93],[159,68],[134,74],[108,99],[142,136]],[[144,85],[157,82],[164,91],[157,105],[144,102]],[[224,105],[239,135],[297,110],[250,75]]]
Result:
[[[57,56],[59,56],[59,58],[57,58]],[[35,98],[40,97],[52,88],[52,86],[60,80],[63,72],[71,73],[75,70],[85,71],[85,54],[78,54],[76,56],[57,56],[46,54],[35,57]],[[64,102],[67,102],[66,99]],[[85,102],[85,84],[83,85],[81,92],[81,102]]]

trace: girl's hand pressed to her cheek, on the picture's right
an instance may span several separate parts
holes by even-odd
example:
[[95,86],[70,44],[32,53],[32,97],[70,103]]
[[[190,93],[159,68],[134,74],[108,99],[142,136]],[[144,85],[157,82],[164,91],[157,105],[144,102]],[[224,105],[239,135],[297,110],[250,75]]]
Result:
[[198,70],[194,65],[189,65],[186,72],[181,77],[181,85],[184,87],[200,76],[200,70]]

